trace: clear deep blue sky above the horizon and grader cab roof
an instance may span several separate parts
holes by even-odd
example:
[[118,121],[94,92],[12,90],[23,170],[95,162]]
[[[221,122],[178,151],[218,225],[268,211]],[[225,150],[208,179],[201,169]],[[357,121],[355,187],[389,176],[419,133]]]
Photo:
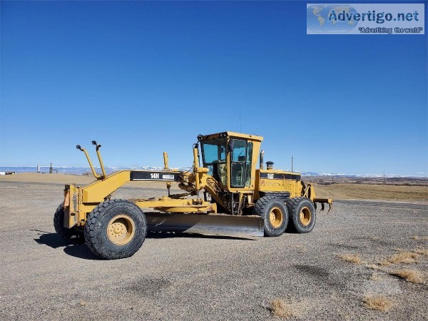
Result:
[[84,166],[96,140],[108,166],[188,167],[238,131],[275,168],[428,175],[427,31],[307,35],[304,1],[0,9],[0,166]]

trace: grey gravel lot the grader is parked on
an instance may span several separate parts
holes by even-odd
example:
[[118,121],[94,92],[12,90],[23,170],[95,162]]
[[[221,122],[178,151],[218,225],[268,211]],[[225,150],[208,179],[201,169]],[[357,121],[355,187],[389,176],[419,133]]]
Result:
[[[420,238],[428,235],[427,208],[337,203],[309,234],[164,235],[148,238],[132,258],[105,261],[54,233],[62,190],[56,183],[0,182],[1,320],[274,319],[275,298],[301,320],[428,319],[427,285],[388,274],[427,271],[426,256],[384,271],[367,267],[398,248],[428,248]],[[123,188],[116,197],[159,193]],[[359,253],[365,263],[340,260],[345,253]],[[365,295],[384,295],[393,307],[370,310]]]

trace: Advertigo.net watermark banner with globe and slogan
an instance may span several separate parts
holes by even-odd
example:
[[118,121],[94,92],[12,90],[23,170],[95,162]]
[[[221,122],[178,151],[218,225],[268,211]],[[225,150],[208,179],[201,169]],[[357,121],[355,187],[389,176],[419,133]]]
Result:
[[424,4],[307,4],[307,34],[425,34]]

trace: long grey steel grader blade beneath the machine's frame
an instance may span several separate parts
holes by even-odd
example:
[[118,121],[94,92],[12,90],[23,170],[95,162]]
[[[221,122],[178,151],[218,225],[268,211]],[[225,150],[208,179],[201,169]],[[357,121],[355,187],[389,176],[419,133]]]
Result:
[[223,214],[146,213],[152,232],[184,232],[205,235],[263,236],[263,218]]

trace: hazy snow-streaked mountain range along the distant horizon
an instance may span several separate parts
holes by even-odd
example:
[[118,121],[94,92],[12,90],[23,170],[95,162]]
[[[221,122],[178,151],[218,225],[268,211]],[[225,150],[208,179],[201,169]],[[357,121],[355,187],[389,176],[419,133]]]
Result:
[[[40,166],[42,173],[49,173],[49,166]],[[91,173],[91,168],[88,167],[70,167],[70,166],[53,166],[54,170],[58,173],[81,175],[83,173]],[[275,168],[276,169],[276,168]],[[101,172],[100,167],[96,167],[98,172]],[[141,167],[106,167],[107,173],[113,173],[117,170],[163,170],[159,166],[141,166]],[[187,171],[190,168],[178,168],[178,170]],[[0,172],[16,172],[16,173],[36,173],[36,166],[4,166],[0,167]],[[289,170],[290,171],[290,170]],[[354,177],[354,178],[383,178],[383,174],[346,174],[346,173],[316,173],[316,172],[302,172],[295,170],[295,173],[300,173],[302,176],[341,176],[341,177]],[[385,178],[392,177],[419,177],[424,178],[427,175],[411,176],[411,175],[385,175]]]

